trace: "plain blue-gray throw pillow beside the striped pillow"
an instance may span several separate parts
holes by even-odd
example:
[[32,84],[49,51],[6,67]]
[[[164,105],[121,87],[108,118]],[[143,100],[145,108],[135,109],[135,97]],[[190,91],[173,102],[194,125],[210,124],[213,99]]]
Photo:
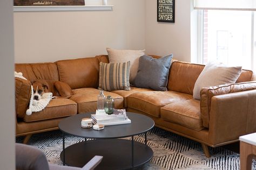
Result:
[[166,91],[172,54],[154,59],[143,55],[139,58],[138,73],[132,84],[135,87]]

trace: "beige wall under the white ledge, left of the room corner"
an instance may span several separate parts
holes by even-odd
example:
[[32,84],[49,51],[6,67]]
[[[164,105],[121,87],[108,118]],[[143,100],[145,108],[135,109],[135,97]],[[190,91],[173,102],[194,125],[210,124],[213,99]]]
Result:
[[[148,0],[147,0],[148,1]],[[145,0],[109,0],[113,11],[15,12],[15,62],[145,49]]]

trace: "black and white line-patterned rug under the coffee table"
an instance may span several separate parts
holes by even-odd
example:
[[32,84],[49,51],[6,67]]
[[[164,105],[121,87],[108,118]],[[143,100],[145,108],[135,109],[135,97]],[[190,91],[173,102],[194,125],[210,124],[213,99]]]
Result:
[[[16,141],[22,143],[23,139],[17,137]],[[147,132],[147,139],[154,155],[142,169],[240,169],[239,154],[223,147],[210,148],[211,158],[206,158],[200,143],[172,132],[153,128]],[[144,143],[144,136],[134,137],[134,140]],[[84,138],[65,136],[66,147],[80,141],[84,141]],[[42,150],[50,164],[62,165],[59,158],[62,152],[60,131],[34,134],[28,145]],[[252,169],[256,169],[255,161]]]

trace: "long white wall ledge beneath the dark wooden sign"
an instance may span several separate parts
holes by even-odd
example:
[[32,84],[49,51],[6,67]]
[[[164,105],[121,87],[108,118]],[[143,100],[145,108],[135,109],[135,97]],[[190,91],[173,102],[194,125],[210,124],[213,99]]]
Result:
[[14,11],[106,11],[113,5],[14,6]]

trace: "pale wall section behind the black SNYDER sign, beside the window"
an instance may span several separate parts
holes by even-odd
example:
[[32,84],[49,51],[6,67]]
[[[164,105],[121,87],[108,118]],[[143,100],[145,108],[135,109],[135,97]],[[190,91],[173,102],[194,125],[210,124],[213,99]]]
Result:
[[157,1],[146,0],[146,53],[191,61],[191,1],[175,1],[175,23],[157,22]]

